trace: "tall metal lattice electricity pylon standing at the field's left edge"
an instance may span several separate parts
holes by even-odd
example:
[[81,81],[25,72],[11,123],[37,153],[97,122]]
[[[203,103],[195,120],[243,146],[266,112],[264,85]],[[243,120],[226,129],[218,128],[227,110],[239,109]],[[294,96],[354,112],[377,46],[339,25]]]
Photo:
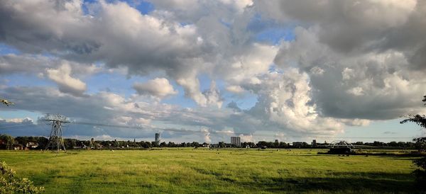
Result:
[[46,122],[49,122],[49,125],[52,125],[52,130],[50,131],[50,137],[48,145],[46,146],[46,150],[51,148],[59,150],[61,148],[65,150],[64,140],[62,139],[62,124],[70,122],[65,116],[63,115],[50,115],[46,114],[45,118],[43,119]]

